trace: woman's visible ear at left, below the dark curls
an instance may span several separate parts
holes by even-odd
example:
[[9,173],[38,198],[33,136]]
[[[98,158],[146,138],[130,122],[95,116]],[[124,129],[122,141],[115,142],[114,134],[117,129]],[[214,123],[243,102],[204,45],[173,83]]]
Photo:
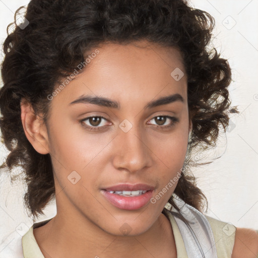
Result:
[[34,110],[28,101],[21,100],[21,119],[23,130],[28,141],[33,148],[40,154],[49,153],[48,136],[45,123]]

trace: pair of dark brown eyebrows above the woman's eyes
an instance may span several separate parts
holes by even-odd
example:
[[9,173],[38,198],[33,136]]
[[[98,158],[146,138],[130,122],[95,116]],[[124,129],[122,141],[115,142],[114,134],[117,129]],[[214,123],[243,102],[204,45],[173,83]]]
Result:
[[[144,107],[144,109],[170,104],[175,101],[184,102],[184,99],[180,94],[176,93],[173,95],[161,97],[156,100],[152,100]],[[119,102],[105,98],[105,97],[100,97],[100,96],[83,95],[83,96],[79,97],[78,99],[74,100],[73,102],[71,102],[69,105],[74,105],[77,103],[94,104],[94,105],[99,105],[99,106],[104,106],[104,107],[120,109]]]

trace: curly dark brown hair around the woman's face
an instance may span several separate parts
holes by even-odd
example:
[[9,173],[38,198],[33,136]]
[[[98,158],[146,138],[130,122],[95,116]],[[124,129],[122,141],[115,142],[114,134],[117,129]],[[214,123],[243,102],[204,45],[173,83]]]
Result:
[[[50,155],[36,152],[25,136],[21,99],[31,103],[36,114],[43,114],[47,123],[51,103],[47,96],[92,47],[147,40],[181,51],[192,121],[187,156],[196,147],[216,146],[221,128],[225,132],[228,126],[229,112],[238,112],[230,107],[229,63],[210,44],[215,20],[183,0],[32,0],[25,18],[29,25],[16,26],[4,42],[0,126],[10,153],[1,168],[12,174],[13,168],[21,167],[18,176],[24,175],[27,185],[25,205],[34,218],[55,197],[53,168]],[[207,200],[187,167],[174,193],[203,212]],[[176,207],[173,198],[169,203]]]

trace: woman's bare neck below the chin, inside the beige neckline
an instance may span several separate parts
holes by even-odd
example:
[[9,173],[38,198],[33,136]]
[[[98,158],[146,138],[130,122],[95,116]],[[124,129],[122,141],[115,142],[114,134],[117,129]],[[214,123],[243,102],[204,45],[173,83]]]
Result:
[[34,235],[45,258],[173,257],[172,253],[176,257],[171,224],[162,213],[146,232],[117,236],[103,231],[85,217],[57,212],[46,225],[34,229]]

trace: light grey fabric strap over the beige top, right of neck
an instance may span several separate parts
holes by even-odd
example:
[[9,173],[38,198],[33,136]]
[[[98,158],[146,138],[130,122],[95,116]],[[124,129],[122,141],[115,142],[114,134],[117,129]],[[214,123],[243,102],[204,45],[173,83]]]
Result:
[[218,258],[212,228],[205,216],[180,199],[174,202],[180,212],[174,207],[169,212],[178,225],[188,258]]

